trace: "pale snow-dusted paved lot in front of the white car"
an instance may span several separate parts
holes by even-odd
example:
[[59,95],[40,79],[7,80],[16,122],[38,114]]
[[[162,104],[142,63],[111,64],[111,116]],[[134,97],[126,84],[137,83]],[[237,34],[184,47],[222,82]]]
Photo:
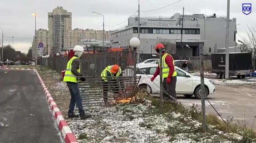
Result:
[[[198,109],[201,109],[201,100],[185,98],[183,95],[178,95],[178,101],[181,101],[186,106],[193,103],[198,104]],[[233,121],[238,123],[244,120],[248,127],[256,129],[254,126],[254,116],[256,116],[256,90],[245,86],[220,86],[216,85],[216,94],[210,94],[208,100],[213,104],[214,108],[221,113],[222,118],[227,119],[228,116],[233,116]],[[208,101],[206,103],[206,113],[216,114],[216,111],[211,107]]]

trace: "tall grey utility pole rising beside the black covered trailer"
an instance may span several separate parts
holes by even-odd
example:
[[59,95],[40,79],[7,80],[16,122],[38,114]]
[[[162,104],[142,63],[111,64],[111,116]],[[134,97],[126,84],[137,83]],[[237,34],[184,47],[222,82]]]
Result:
[[226,31],[226,64],[225,64],[225,79],[229,78],[229,14],[230,14],[230,0],[227,3],[227,31]]

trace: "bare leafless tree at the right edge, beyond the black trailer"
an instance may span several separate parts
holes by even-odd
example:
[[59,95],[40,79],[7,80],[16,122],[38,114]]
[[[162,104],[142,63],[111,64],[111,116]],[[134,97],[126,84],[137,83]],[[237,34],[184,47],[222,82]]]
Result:
[[247,50],[253,53],[253,55],[256,55],[256,25],[249,27],[247,25],[248,29],[246,30],[246,37],[240,37],[242,38],[242,42],[244,42],[245,45],[247,45]]

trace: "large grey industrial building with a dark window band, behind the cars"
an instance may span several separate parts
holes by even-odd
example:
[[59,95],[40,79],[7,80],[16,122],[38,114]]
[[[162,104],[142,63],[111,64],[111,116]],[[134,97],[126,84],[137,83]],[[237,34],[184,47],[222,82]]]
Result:
[[[152,49],[154,45],[165,40],[175,44],[173,54],[185,57],[199,56],[199,44],[202,43],[204,54],[210,55],[216,49],[225,48],[226,20],[226,17],[216,16],[215,13],[210,16],[204,14],[183,16],[175,13],[170,17],[140,17],[140,51],[144,56],[155,54]],[[236,18],[230,20],[230,39],[228,39],[230,47],[237,45],[236,25]],[[138,37],[137,15],[128,19],[127,26],[111,32],[111,42],[126,48],[129,47],[128,43],[132,37]]]

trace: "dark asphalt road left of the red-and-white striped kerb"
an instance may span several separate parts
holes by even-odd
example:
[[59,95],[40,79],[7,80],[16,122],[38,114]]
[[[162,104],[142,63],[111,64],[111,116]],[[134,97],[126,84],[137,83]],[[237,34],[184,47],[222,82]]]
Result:
[[62,143],[32,70],[0,69],[0,143]]

